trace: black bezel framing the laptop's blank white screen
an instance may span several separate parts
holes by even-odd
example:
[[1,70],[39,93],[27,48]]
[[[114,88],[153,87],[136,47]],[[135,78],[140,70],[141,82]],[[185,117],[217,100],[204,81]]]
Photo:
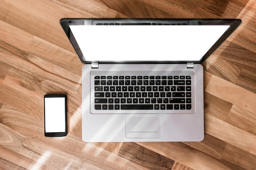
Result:
[[[92,63],[94,61],[85,61],[86,54],[81,52],[79,45],[70,30],[70,25],[85,25],[92,24],[92,22],[97,21],[126,21],[126,22],[151,22],[154,21],[164,21],[164,22],[189,22],[191,25],[229,25],[229,28],[225,33],[216,41],[215,44],[202,56],[199,61],[193,61],[193,63],[203,63],[221,44],[223,41],[233,33],[236,28],[241,24],[239,19],[62,19],[60,21],[63,30],[65,31],[67,37],[69,38],[74,50],[79,56],[82,63]],[[97,61],[99,63],[187,63],[191,61]]]

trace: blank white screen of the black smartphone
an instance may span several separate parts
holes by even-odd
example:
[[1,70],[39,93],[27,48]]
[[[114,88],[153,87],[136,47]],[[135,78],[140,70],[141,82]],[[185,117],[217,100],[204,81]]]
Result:
[[45,98],[45,132],[65,132],[65,98]]

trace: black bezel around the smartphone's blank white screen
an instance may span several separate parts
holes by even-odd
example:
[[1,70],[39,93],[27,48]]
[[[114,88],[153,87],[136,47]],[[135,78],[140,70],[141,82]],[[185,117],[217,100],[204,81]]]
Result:
[[[63,137],[67,135],[67,96],[65,94],[46,94],[44,96],[44,124],[45,124],[45,98],[65,98],[65,132],[46,132],[45,137]],[[46,127],[46,126],[45,126]]]

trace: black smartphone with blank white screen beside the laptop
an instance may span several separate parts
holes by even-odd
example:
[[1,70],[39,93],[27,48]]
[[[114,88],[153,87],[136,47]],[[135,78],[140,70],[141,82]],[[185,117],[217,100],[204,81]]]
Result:
[[67,135],[67,96],[65,94],[46,94],[44,96],[45,136],[61,137]]

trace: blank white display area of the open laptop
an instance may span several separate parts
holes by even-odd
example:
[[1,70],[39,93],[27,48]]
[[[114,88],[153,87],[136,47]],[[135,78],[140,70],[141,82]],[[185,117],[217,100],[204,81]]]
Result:
[[70,25],[86,61],[200,61],[229,25]]

